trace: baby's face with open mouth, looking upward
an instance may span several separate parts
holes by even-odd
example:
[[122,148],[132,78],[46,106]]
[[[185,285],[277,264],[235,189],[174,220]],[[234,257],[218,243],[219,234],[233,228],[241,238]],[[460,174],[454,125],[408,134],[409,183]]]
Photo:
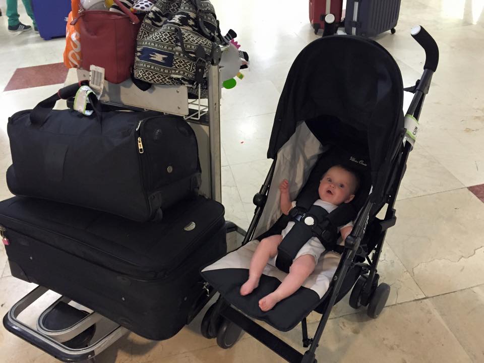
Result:
[[349,171],[333,166],[324,174],[319,184],[319,198],[334,205],[349,203],[354,198],[356,180]]

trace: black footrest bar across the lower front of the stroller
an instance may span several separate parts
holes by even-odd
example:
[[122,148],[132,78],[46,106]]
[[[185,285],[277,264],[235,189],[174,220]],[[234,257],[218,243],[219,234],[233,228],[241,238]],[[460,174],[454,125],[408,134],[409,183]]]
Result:
[[220,314],[288,362],[299,363],[302,360],[301,353],[235,309],[228,306]]

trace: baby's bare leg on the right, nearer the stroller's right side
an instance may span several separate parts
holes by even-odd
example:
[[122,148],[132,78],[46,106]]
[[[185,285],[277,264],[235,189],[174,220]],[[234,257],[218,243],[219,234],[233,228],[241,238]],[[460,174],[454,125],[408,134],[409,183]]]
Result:
[[280,300],[292,295],[304,283],[314,271],[316,261],[313,255],[302,255],[294,260],[289,274],[284,278],[279,287],[267,296],[259,300],[262,311],[271,310]]

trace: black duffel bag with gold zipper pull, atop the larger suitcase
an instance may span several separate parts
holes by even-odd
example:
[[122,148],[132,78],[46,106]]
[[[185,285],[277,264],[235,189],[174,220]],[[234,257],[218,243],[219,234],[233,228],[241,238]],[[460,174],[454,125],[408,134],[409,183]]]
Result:
[[65,87],[9,118],[13,194],[148,221],[198,193],[197,139],[183,117],[106,111],[92,93],[91,116],[52,110],[79,87]]

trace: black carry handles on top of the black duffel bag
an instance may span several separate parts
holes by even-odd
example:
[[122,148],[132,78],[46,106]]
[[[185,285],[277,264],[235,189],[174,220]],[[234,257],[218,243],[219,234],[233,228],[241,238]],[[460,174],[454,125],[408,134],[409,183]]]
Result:
[[[71,97],[76,96],[79,88],[86,85],[89,85],[89,81],[79,81],[79,83],[75,83],[59,89],[56,94],[39,102],[30,113],[30,122],[33,125],[42,126],[47,120],[50,111],[52,111],[52,109],[54,108],[55,102],[60,99],[67,100]],[[99,100],[94,93],[90,93],[88,97],[97,119],[99,120],[99,122],[102,122],[102,110]]]

